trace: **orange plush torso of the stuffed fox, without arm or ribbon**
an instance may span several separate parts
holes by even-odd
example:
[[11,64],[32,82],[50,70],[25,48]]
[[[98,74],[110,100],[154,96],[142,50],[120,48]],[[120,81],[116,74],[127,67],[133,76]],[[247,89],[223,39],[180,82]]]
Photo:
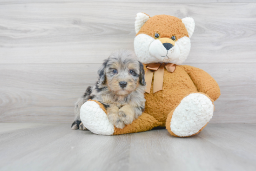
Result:
[[[145,65],[146,66],[146,65]],[[144,67],[145,70],[146,67]],[[176,66],[175,72],[164,69],[162,91],[153,94],[154,76],[150,93],[145,93],[145,112],[162,122],[165,126],[167,116],[188,94],[198,92],[189,74],[182,66]]]

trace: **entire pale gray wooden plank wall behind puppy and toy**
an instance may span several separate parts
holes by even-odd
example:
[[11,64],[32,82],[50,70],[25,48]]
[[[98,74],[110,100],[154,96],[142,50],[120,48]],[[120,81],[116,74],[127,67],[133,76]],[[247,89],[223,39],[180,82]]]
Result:
[[0,0],[0,122],[69,122],[135,15],[193,17],[187,65],[220,85],[211,123],[256,123],[255,0]]

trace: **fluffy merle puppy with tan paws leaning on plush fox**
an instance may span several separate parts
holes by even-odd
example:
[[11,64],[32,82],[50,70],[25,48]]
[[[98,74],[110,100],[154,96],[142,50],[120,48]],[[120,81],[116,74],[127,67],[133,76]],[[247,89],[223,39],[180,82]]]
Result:
[[138,118],[145,108],[144,69],[133,52],[119,50],[104,61],[98,71],[96,84],[89,86],[74,108],[72,129],[86,130],[81,123],[80,108],[88,99],[101,102],[107,109],[109,121],[123,128]]

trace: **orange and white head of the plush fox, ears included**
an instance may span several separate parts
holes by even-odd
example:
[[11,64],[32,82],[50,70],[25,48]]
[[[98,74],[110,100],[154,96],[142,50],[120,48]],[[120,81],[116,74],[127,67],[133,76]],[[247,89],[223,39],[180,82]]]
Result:
[[145,13],[137,13],[135,53],[144,64],[164,62],[180,65],[189,55],[194,29],[195,22],[189,17],[178,19],[155,15],[150,18]]

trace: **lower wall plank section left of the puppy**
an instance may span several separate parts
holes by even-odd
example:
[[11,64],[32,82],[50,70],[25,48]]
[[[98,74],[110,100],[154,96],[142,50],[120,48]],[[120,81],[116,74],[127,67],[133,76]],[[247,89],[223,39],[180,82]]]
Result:
[[0,120],[72,122],[74,103],[96,82],[99,66],[1,65]]

